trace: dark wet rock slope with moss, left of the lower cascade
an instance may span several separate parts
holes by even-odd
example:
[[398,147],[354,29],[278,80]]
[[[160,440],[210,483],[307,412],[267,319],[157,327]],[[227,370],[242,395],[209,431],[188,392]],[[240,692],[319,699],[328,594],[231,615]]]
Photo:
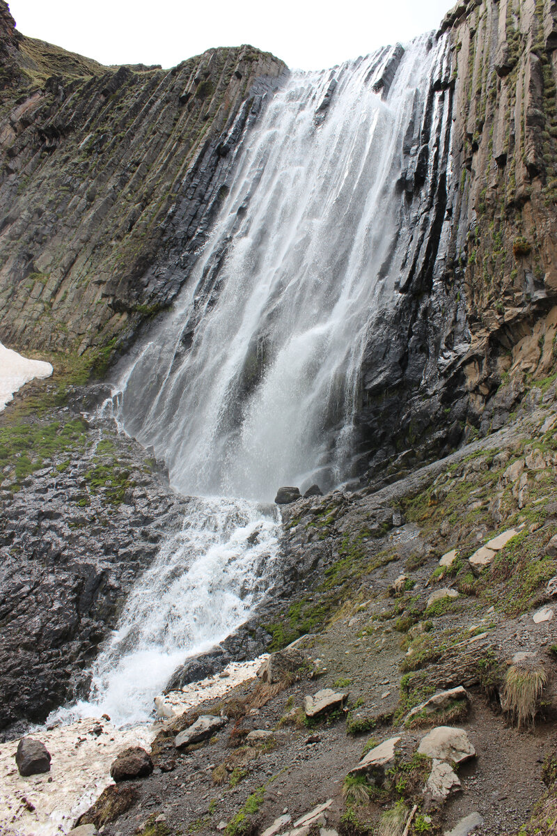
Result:
[[87,696],[85,671],[125,595],[185,512],[134,441],[73,421],[68,449],[15,490],[10,475],[0,486],[0,735]]

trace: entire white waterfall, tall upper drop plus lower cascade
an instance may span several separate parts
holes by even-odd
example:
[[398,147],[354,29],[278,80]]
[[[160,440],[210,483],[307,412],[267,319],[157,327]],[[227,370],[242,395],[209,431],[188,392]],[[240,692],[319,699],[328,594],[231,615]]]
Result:
[[272,585],[277,523],[256,503],[350,475],[362,354],[400,278],[386,265],[409,125],[444,51],[424,37],[291,74],[236,151],[204,252],[110,404],[177,490],[213,498],[191,501],[139,579],[78,713],[144,717],[175,666]]

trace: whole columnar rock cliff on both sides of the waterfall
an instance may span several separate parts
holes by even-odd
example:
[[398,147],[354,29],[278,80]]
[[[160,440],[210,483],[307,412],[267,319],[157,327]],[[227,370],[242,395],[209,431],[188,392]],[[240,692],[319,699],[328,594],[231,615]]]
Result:
[[[0,12],[0,337],[102,371],[185,282],[286,67],[241,47],[105,68]],[[556,17],[551,0],[470,0],[443,20],[406,144],[401,300],[363,359],[357,473],[500,426],[509,370],[552,367]]]

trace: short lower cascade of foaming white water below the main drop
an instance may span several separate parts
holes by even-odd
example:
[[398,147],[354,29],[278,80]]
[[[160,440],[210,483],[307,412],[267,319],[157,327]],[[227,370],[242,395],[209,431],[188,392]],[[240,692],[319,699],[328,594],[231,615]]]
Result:
[[175,668],[225,639],[271,586],[277,536],[272,507],[192,499],[181,531],[135,584],[95,661],[89,700],[49,720],[102,714],[118,726],[148,720]]

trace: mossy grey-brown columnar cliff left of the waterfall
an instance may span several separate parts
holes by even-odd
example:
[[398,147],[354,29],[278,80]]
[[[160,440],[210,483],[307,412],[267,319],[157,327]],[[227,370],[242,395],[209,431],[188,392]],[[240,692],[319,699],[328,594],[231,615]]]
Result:
[[230,150],[286,67],[246,46],[170,71],[101,67],[22,36],[13,51],[22,80],[0,110],[0,332],[93,356],[171,302]]

